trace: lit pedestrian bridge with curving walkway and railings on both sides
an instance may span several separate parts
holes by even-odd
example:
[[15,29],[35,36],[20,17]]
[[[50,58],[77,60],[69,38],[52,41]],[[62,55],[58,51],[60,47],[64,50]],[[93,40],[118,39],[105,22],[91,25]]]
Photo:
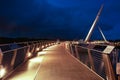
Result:
[[[34,41],[4,44],[0,47],[1,80],[118,79],[110,66],[108,56],[96,59],[82,47],[81,54],[78,46],[70,46],[68,42],[59,44],[55,41]],[[103,61],[100,63],[99,60]]]

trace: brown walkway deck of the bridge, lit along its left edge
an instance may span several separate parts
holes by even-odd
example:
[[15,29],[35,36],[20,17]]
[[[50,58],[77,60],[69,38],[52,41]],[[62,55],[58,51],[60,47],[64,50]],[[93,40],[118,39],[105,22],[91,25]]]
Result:
[[6,80],[103,80],[73,58],[63,44],[44,49],[43,53],[46,54],[34,58],[39,63],[22,64]]

